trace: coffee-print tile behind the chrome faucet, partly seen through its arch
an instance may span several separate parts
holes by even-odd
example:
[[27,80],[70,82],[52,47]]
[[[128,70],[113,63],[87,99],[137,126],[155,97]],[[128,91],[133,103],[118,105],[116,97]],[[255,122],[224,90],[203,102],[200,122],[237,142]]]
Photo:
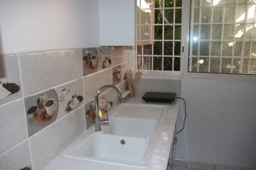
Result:
[[[99,96],[99,103],[101,102],[104,112],[110,111],[114,106],[113,103],[113,92],[107,90]],[[84,105],[84,110],[86,113],[86,129],[88,130],[91,126],[94,125],[95,118],[95,102],[94,100],[90,101]]]

